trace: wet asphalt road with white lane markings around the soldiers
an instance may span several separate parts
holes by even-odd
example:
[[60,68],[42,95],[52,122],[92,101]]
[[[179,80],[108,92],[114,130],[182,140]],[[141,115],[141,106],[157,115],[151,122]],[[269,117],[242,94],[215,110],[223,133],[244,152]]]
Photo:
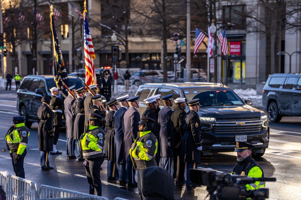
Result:
[[[0,90],[0,149],[6,148],[4,137],[11,126],[12,116],[18,115],[16,111],[15,91]],[[270,123],[270,144],[262,158],[256,159],[264,170],[265,177],[275,177],[276,182],[266,182],[269,188],[269,199],[301,199],[301,175],[299,166],[301,161],[301,120],[298,117],[284,117],[280,123]],[[89,185],[85,178],[85,169],[82,162],[67,160],[66,133],[61,130],[57,149],[61,155],[49,155],[50,165],[54,170],[42,171],[40,167],[40,152],[38,151],[37,123],[29,129],[29,144],[25,157],[25,178],[42,184],[60,187],[68,190],[88,193]],[[231,172],[236,164],[234,152],[212,154],[202,158],[198,167],[212,168],[223,172]],[[8,152],[0,153],[0,171],[14,174],[11,158]],[[101,171],[102,195],[108,199],[122,197],[125,199],[139,199],[137,188],[119,186],[116,181],[107,181],[107,164],[104,162]],[[136,175],[137,180],[137,175]],[[160,183],[158,183],[160,184]],[[175,187],[175,199],[205,199],[206,187],[186,188]]]

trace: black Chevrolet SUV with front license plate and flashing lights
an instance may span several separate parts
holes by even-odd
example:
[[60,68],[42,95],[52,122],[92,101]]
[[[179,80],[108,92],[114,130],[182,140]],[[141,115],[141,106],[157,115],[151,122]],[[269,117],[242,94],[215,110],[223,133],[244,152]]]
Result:
[[[263,156],[268,148],[269,125],[265,112],[253,108],[251,100],[243,102],[225,85],[205,82],[140,85],[136,92],[141,101],[138,108],[140,114],[146,107],[143,100],[155,94],[161,94],[161,97],[173,94],[173,99],[182,97],[186,98],[186,102],[200,99],[198,114],[202,124],[204,152],[234,151],[235,141],[246,141],[254,145],[253,157]],[[213,101],[215,96],[218,101]],[[189,107],[186,109],[188,111]]]

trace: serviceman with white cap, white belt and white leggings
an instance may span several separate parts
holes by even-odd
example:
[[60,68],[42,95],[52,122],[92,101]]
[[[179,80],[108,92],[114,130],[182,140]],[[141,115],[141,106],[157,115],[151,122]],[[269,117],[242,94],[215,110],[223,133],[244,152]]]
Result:
[[50,151],[50,154],[62,154],[62,152],[57,151],[56,145],[58,138],[60,136],[60,127],[63,127],[63,109],[62,105],[64,105],[64,100],[57,97],[61,94],[57,87],[53,87],[50,89],[51,92],[51,100],[49,104],[49,108],[53,112],[53,128],[54,128],[54,138],[53,138],[53,151]]

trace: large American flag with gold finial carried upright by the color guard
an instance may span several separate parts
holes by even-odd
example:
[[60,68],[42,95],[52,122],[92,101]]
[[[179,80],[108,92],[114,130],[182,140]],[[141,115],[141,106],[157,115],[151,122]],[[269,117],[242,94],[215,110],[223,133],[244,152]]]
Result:
[[93,85],[97,84],[95,70],[94,70],[94,62],[95,53],[92,43],[92,37],[90,34],[88,21],[87,21],[87,12],[84,11],[84,55],[85,55],[85,68],[86,68],[86,84]]

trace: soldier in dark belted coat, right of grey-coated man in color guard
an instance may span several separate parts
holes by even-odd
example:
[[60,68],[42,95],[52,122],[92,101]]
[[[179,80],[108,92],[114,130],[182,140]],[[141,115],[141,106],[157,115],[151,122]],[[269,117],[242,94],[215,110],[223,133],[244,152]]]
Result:
[[85,132],[85,109],[84,109],[84,87],[78,88],[75,93],[77,95],[76,100],[73,103],[73,110],[75,114],[74,119],[74,134],[73,134],[73,140],[75,141],[76,145],[76,160],[81,161],[80,158],[80,151],[79,151],[79,138],[80,136]]

